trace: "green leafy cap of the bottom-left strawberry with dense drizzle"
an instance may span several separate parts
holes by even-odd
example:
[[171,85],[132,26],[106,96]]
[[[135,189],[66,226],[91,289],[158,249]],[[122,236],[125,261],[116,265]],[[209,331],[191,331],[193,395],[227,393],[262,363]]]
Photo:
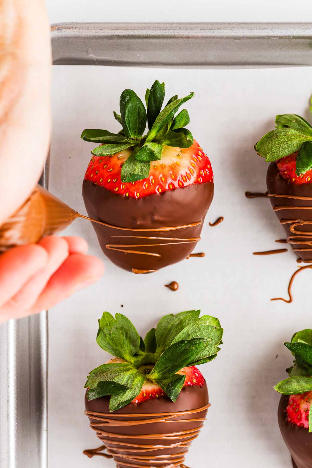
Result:
[[109,409],[115,411],[135,400],[148,380],[175,402],[185,382],[185,375],[177,372],[209,362],[219,351],[216,345],[221,343],[223,330],[218,319],[199,314],[199,310],[168,314],[143,340],[127,317],[103,312],[96,341],[121,359],[90,372],[87,398],[110,396]]

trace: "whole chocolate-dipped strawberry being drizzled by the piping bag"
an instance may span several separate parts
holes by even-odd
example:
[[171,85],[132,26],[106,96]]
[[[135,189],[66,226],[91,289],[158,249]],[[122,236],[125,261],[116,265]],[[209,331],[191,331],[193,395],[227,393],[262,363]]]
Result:
[[120,115],[114,112],[119,133],[82,132],[82,139],[99,144],[82,186],[87,212],[104,223],[93,225],[105,255],[126,270],[157,271],[185,259],[200,240],[213,172],[185,128],[188,111],[175,115],[193,96],[173,96],[161,110],[165,85],[156,80],[146,91],[146,111],[126,89]]

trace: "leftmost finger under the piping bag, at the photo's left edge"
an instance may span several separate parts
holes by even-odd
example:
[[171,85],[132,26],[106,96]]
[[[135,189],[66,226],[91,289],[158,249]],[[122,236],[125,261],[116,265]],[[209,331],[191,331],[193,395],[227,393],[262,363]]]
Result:
[[0,256],[0,307],[14,296],[48,263],[48,252],[40,245],[15,247]]

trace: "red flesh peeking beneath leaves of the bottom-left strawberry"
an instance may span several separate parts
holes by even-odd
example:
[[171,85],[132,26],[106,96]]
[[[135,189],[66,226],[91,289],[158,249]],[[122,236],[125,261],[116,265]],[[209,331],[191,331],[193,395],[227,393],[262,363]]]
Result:
[[[203,386],[205,380],[203,374],[195,366],[183,367],[177,374],[186,375],[183,387],[199,385]],[[143,385],[141,393],[133,400],[135,403],[141,403],[145,400],[151,400],[152,398],[159,398],[165,396],[165,392],[151,380],[147,380]]]

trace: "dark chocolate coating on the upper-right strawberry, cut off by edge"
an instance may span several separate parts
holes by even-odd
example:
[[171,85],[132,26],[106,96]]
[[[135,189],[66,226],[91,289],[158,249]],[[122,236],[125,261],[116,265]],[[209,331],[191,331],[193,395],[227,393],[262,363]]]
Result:
[[[302,185],[297,185],[278,175],[278,168],[275,162],[271,162],[268,167],[267,173],[267,187],[268,193],[275,193],[277,195],[292,195],[296,197],[312,197],[312,184],[304,183]],[[271,200],[272,206],[311,206],[312,200],[299,200],[297,198],[279,198],[279,197],[269,197]],[[276,216],[278,219],[303,219],[306,221],[312,221],[312,210],[280,210],[276,211]],[[293,235],[290,231],[291,223],[282,225],[287,236]],[[312,232],[312,225],[305,224],[303,226],[297,227],[298,231]],[[307,241],[307,238],[297,238],[297,240]],[[310,238],[312,240],[312,236]],[[302,244],[290,244],[292,249],[311,249],[309,245]],[[302,258],[304,261],[312,260],[312,250],[307,250],[306,252],[296,252],[297,256]]]

